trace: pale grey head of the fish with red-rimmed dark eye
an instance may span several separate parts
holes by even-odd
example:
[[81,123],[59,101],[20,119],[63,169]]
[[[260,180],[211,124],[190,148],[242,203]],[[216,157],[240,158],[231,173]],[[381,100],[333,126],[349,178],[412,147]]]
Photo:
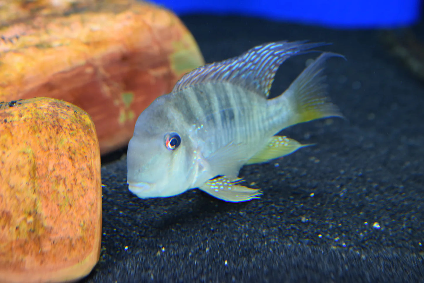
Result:
[[127,182],[139,198],[175,196],[192,184],[192,141],[158,98],[143,111],[128,144]]

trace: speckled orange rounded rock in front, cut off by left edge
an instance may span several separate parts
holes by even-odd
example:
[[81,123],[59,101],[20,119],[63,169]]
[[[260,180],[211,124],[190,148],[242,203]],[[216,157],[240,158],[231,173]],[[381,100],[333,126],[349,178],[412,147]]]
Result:
[[100,153],[86,112],[52,98],[0,103],[0,282],[65,282],[100,255]]

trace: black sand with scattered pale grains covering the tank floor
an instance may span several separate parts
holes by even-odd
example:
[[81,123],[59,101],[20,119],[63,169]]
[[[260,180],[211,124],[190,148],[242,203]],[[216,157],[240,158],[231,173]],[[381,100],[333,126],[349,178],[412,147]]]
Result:
[[[138,199],[125,155],[103,165],[102,252],[84,282],[424,282],[424,85],[387,56],[377,32],[182,20],[206,62],[264,42],[333,42],[321,50],[348,61],[329,60],[329,93],[348,121],[284,130],[316,146],[243,167],[240,177],[265,193],[239,204],[198,190]],[[272,95],[315,56],[280,67]]]

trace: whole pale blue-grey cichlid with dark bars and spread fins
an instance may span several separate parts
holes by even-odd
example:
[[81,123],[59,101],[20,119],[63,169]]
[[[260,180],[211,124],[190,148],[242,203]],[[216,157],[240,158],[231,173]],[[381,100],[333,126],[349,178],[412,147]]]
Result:
[[275,134],[297,123],[343,118],[322,74],[325,60],[344,58],[339,54],[321,53],[285,92],[268,99],[279,65],[322,45],[268,43],[185,74],[137,119],[128,144],[129,190],[140,198],[191,188],[229,202],[259,198],[260,189],[240,185],[240,168],[307,146]]

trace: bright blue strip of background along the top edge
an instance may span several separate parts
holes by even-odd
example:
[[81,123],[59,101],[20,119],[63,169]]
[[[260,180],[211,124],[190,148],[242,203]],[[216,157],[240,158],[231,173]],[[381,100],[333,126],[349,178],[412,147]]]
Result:
[[387,28],[413,24],[419,0],[153,0],[178,15],[241,14],[335,28]]

